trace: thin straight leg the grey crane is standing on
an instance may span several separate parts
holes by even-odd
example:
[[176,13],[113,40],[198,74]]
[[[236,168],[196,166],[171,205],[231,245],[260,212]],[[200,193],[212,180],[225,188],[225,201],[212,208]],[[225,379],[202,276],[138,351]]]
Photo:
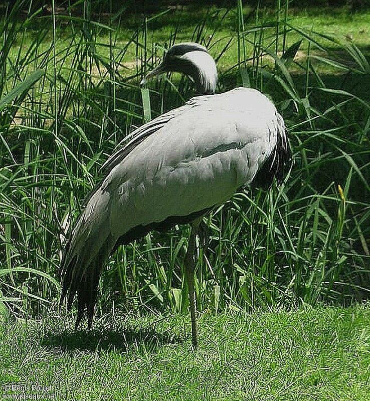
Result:
[[196,247],[196,236],[198,233],[199,225],[202,218],[198,218],[192,222],[192,231],[190,233],[188,251],[185,256],[185,274],[188,281],[189,289],[189,300],[190,300],[190,314],[192,318],[192,343],[194,350],[198,347],[198,327],[197,327],[197,315],[196,315],[196,296],[194,291],[194,270],[196,267],[197,258],[197,247]]

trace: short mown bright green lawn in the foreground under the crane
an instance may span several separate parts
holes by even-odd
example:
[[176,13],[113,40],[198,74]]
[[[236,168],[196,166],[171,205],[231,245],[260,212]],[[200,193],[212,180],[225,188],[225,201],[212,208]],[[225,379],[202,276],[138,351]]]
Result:
[[107,316],[77,333],[56,313],[3,322],[0,394],[24,384],[50,387],[37,399],[368,400],[369,306],[204,313],[195,355],[188,316]]

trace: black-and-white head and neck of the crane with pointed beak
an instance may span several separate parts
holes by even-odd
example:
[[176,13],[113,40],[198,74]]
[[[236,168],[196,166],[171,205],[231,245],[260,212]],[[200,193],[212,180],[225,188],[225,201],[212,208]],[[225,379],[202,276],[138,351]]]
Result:
[[197,86],[197,91],[204,94],[215,93],[217,86],[217,68],[215,60],[208,50],[198,43],[179,43],[172,46],[163,57],[157,68],[150,71],[141,81],[154,76],[175,71],[188,75]]

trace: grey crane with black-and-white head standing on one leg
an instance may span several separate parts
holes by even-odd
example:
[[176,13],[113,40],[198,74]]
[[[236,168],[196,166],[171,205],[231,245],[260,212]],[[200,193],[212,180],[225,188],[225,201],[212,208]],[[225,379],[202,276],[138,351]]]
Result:
[[167,71],[189,75],[198,91],[209,95],[142,125],[104,163],[105,176],[90,193],[65,248],[60,304],[67,297],[70,309],[77,293],[76,328],[85,309],[91,327],[109,255],[151,230],[190,223],[184,265],[196,348],[195,240],[202,217],[246,185],[281,181],[291,153],[283,118],[265,95],[249,88],[213,94],[216,64],[203,46],[173,46],[145,80]]

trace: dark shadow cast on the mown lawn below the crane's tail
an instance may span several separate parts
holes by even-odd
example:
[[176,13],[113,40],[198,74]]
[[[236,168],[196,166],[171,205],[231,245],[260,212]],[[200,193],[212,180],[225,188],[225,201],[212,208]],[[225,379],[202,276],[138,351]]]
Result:
[[122,329],[107,330],[98,328],[93,330],[64,331],[55,333],[48,331],[41,339],[41,346],[55,349],[60,348],[61,351],[85,350],[120,350],[126,351],[130,347],[138,348],[144,346],[146,350],[155,350],[166,344],[179,344],[186,341],[184,335],[173,335],[169,333],[161,333],[155,328],[138,328],[138,329]]

